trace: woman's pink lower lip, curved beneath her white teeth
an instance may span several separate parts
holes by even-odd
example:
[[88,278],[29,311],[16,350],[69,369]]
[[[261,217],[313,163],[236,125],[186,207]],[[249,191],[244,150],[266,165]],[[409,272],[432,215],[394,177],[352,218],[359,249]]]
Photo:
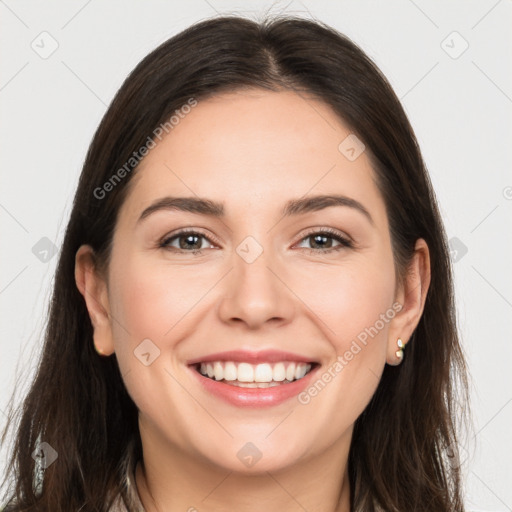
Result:
[[290,398],[296,397],[310,383],[313,374],[318,366],[313,368],[302,379],[295,380],[288,384],[281,384],[271,388],[241,388],[224,384],[222,381],[210,379],[201,375],[194,367],[189,367],[192,373],[199,379],[201,385],[220,399],[237,407],[270,407],[278,405]]

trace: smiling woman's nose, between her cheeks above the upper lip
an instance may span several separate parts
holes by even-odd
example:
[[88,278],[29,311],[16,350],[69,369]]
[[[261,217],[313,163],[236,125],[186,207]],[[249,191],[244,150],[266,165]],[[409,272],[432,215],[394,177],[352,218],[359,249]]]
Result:
[[252,263],[234,254],[234,268],[225,282],[218,314],[223,322],[255,330],[290,322],[295,313],[286,276],[267,251]]

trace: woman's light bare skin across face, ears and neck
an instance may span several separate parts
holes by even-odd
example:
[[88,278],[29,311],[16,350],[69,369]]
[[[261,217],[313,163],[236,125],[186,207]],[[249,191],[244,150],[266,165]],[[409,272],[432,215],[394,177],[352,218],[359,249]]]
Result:
[[[350,133],[328,106],[293,92],[200,101],[133,177],[105,275],[89,246],[77,252],[96,350],[115,352],[140,411],[136,483],[148,512],[349,510],[354,422],[385,364],[400,363],[397,339],[409,340],[430,283],[420,239],[397,284],[370,161],[338,150]],[[289,199],[334,193],[363,204],[373,224],[346,206],[281,215]],[[223,202],[225,216],[161,210],[138,222],[166,195]],[[202,254],[179,252],[178,239],[174,250],[159,246],[183,227],[210,237],[200,239]],[[311,238],[322,228],[354,246],[322,252]],[[250,264],[236,252],[247,236],[263,248]],[[327,244],[339,248],[335,239]],[[238,408],[207,394],[186,368],[218,351],[277,349],[311,356],[322,371],[396,302],[401,311],[308,404]],[[133,353],[146,338],[160,350],[149,366]],[[247,468],[236,454],[249,441],[262,458]]]

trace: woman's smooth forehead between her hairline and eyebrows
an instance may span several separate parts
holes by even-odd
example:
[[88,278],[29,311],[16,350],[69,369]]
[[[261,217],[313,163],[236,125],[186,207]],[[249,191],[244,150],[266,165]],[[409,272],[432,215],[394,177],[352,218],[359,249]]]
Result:
[[[334,191],[380,203],[369,158],[349,160],[350,128],[325,103],[259,89],[199,100],[139,165],[123,208],[133,215],[166,194],[224,202],[254,214],[290,198]],[[140,212],[139,212],[140,213]]]

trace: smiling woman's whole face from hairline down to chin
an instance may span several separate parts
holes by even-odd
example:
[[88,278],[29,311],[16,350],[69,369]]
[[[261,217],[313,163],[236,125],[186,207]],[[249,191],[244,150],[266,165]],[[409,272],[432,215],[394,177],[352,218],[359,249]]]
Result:
[[350,134],[312,98],[244,91],[199,101],[145,157],[95,326],[143,443],[245,472],[347,446],[401,307],[369,158],[339,149]]

